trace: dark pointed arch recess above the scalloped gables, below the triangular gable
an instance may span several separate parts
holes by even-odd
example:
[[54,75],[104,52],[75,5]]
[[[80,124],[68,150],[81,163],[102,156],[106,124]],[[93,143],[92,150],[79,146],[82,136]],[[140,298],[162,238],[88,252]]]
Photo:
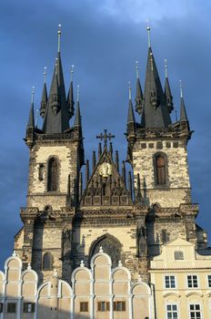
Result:
[[102,247],[104,252],[111,257],[112,268],[116,267],[119,261],[123,261],[121,242],[119,242],[116,237],[107,233],[106,235],[97,238],[97,240],[92,243],[89,252],[89,264],[92,256],[99,252],[100,247]]

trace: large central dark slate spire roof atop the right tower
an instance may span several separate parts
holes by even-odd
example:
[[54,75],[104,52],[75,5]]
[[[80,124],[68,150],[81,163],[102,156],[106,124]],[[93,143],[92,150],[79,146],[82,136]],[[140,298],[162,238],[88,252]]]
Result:
[[[156,107],[152,104],[152,94],[156,94]],[[141,126],[144,128],[166,128],[169,124],[171,124],[171,118],[166,106],[166,98],[161,86],[152,49],[149,47]]]

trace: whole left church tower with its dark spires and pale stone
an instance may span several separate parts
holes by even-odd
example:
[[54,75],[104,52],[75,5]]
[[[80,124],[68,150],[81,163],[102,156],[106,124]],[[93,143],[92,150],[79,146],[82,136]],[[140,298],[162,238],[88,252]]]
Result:
[[[21,209],[23,229],[15,236],[15,250],[24,265],[31,263],[40,279],[52,274],[70,276],[72,220],[78,201],[79,171],[84,164],[84,147],[79,100],[74,108],[73,80],[67,98],[58,53],[49,95],[44,83],[40,115],[43,128],[35,127],[34,98],[26,128],[29,149],[27,206]],[[33,92],[34,96],[34,92]],[[69,126],[74,116],[75,122]]]

